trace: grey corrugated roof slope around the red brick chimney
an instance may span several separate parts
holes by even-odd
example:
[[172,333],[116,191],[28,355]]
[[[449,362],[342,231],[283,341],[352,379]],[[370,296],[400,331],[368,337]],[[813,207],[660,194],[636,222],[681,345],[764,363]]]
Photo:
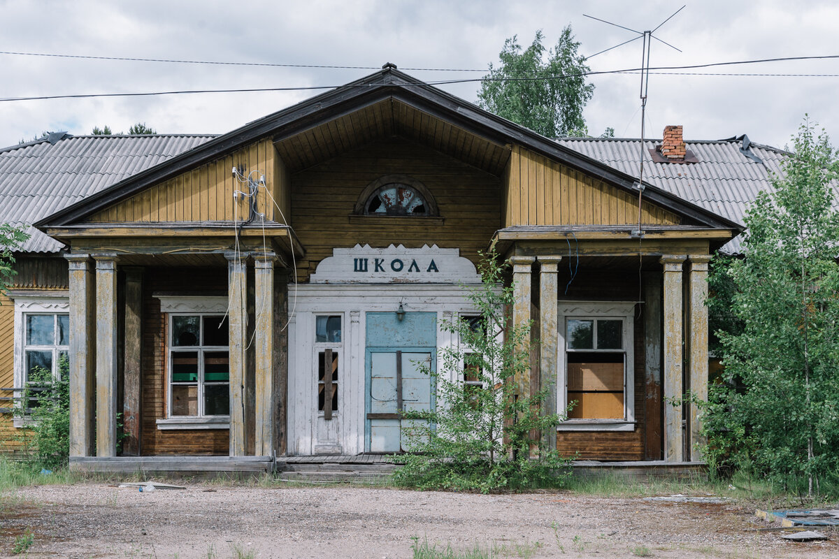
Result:
[[[760,158],[762,163],[758,163],[740,151],[743,137],[685,141],[697,163],[655,163],[649,150],[661,140],[645,141],[643,150],[638,138],[569,137],[557,142],[636,177],[643,154],[644,182],[740,224],[758,193],[772,190],[772,177],[782,173],[781,166],[789,157],[783,150],[753,143],[750,150]],[[741,241],[738,236],[722,251],[740,252]]]

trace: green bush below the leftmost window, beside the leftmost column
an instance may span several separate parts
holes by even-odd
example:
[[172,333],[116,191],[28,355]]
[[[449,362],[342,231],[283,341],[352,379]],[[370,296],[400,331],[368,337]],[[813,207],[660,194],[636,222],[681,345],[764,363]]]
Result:
[[58,369],[58,378],[40,367],[30,371],[22,405],[15,411],[29,420],[21,437],[30,459],[48,469],[63,468],[70,457],[70,364],[66,355],[59,357]]

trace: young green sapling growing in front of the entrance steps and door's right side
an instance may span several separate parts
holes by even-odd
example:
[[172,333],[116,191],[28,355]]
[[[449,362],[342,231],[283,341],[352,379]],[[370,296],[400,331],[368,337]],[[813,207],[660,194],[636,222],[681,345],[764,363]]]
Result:
[[[539,432],[555,432],[564,419],[539,411],[553,386],[534,396],[517,394],[517,382],[529,374],[529,324],[507,320],[513,287],[502,287],[503,265],[494,254],[481,264],[482,286],[467,297],[477,317],[444,320],[440,329],[456,334],[460,344],[440,350],[434,411],[404,411],[410,421],[410,450],[396,484],[420,489],[499,489],[561,486],[568,460],[550,451]],[[472,384],[464,380],[470,380]],[[535,449],[539,458],[529,458]]]

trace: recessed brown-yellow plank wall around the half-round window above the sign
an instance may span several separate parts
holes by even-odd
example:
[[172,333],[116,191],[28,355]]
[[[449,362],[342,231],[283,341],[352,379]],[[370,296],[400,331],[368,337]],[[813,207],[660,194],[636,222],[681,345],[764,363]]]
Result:
[[[440,219],[351,216],[368,184],[387,174],[419,180],[435,197]],[[306,281],[334,247],[436,244],[477,261],[501,225],[501,181],[490,173],[404,138],[374,142],[292,175],[294,232],[306,247],[297,261]]]

